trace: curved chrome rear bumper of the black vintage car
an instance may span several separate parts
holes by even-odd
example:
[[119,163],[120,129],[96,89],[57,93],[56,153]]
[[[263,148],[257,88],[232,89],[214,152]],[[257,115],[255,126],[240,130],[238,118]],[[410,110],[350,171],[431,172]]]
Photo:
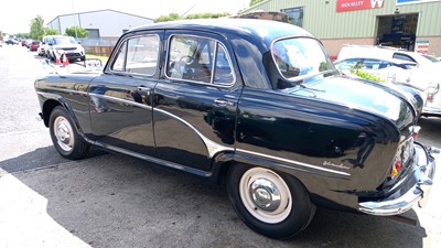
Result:
[[429,192],[433,183],[435,161],[440,158],[440,150],[437,148],[426,149],[415,143],[418,161],[413,165],[413,175],[406,185],[411,184],[406,192],[397,191],[387,198],[375,202],[358,203],[358,209],[370,215],[398,215],[412,208],[418,203],[423,207],[429,198]]

